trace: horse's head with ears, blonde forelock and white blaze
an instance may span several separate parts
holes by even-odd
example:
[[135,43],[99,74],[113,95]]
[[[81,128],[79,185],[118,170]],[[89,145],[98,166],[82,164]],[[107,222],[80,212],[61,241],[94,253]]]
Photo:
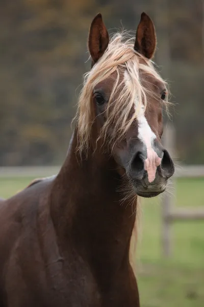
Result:
[[174,165],[161,144],[167,89],[151,62],[154,24],[142,13],[134,41],[125,33],[109,40],[98,14],[91,23],[88,47],[92,70],[79,102],[79,148],[89,148],[90,136],[95,135],[95,144],[110,151],[118,172],[135,192],[156,196],[165,190]]

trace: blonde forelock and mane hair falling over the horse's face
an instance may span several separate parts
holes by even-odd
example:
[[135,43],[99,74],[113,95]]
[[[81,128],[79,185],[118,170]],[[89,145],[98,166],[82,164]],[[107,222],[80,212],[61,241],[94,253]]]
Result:
[[[99,82],[109,78],[113,73],[117,75],[106,109],[107,121],[99,136],[99,138],[101,136],[105,137],[108,127],[112,125],[113,131],[110,142],[115,140],[116,135],[118,139],[126,134],[138,112],[140,112],[142,104],[145,108],[148,105],[147,94],[150,94],[151,97],[155,95],[153,91],[141,84],[141,72],[163,82],[164,86],[167,87],[166,82],[155,70],[154,63],[134,50],[134,40],[135,36],[131,36],[128,32],[113,35],[104,55],[92,70],[84,75],[84,86],[80,94],[76,116],[78,128],[77,149],[80,153],[82,151],[87,152],[89,149],[91,127],[94,121],[92,94],[94,87]],[[121,70],[126,70],[129,82],[119,79]],[[118,95],[117,101],[114,103],[116,91]],[[130,111],[136,97],[138,100],[137,109],[135,109],[135,114],[130,118]],[[166,106],[167,101],[164,104]]]

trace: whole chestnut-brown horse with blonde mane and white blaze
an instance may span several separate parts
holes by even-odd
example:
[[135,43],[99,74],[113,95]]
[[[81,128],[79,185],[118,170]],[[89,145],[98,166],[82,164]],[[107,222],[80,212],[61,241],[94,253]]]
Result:
[[0,205],[1,307],[139,307],[131,261],[138,197],[174,173],[162,146],[167,84],[152,58],[156,32],[109,36],[92,20],[72,141],[59,173]]

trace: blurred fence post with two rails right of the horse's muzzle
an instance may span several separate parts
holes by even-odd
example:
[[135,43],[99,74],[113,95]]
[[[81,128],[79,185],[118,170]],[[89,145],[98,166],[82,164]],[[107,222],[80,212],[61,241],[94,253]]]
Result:
[[[165,129],[163,136],[163,144],[168,149],[170,155],[175,157],[175,132],[173,126],[169,125]],[[176,178],[199,178],[204,177],[204,165],[179,165],[175,167],[175,174],[172,181],[174,193],[170,194],[166,192],[162,196],[162,251],[165,257],[169,257],[172,253],[172,239],[171,239],[171,227],[174,221],[186,221],[186,220],[203,220],[204,221],[204,209],[185,208],[185,204],[182,207],[175,208],[175,180]],[[204,187],[203,187],[204,188]],[[204,200],[203,200],[204,208]]]

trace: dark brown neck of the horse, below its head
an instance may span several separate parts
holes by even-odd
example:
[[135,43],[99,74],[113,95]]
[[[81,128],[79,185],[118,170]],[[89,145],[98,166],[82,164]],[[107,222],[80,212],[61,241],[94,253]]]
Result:
[[105,262],[113,269],[128,261],[136,204],[122,200],[122,179],[113,159],[96,152],[78,161],[75,146],[74,137],[52,190],[55,227],[95,266],[104,268]]

